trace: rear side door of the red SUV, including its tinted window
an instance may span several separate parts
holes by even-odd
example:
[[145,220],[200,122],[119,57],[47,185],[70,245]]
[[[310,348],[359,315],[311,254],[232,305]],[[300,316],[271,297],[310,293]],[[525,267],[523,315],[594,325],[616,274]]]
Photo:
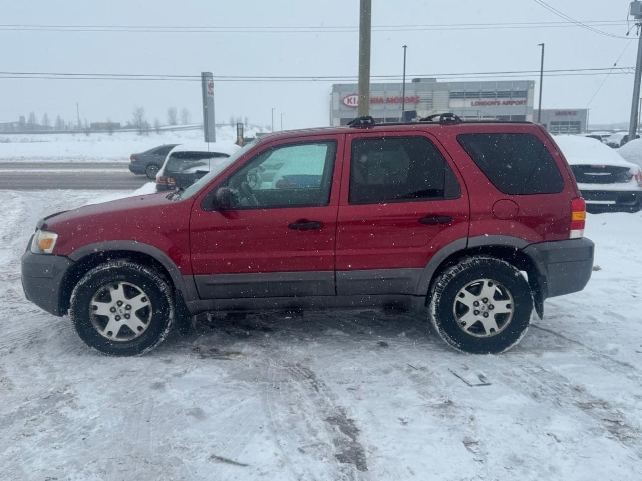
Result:
[[415,294],[430,258],[465,240],[469,203],[428,133],[347,135],[336,233],[337,294]]

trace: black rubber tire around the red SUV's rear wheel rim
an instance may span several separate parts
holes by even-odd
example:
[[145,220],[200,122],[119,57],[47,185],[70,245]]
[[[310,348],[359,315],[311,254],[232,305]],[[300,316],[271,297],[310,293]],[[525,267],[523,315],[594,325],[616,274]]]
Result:
[[[504,321],[505,326],[501,326],[498,332],[490,329],[489,337],[473,335],[456,322],[456,296],[465,286],[480,279],[492,280],[496,287],[499,284],[501,289],[508,291],[512,296],[512,303],[507,303],[512,305],[513,309],[510,321]],[[503,293],[501,289],[496,293],[498,297]],[[460,307],[461,303],[457,306]],[[435,279],[429,298],[429,317],[435,330],[450,346],[470,354],[497,354],[515,346],[528,330],[532,310],[533,296],[530,286],[519,270],[508,262],[484,255],[464,258],[455,266],[447,267]],[[490,310],[488,312],[493,314]],[[501,315],[499,318],[496,316],[497,314],[493,317],[508,319]],[[498,320],[498,326],[500,322],[501,320]],[[485,335],[481,326],[481,323],[474,323],[468,328]]]

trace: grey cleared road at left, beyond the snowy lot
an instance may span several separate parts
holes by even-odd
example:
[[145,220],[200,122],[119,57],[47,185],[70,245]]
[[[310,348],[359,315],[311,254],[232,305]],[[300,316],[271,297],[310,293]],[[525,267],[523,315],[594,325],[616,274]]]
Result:
[[0,190],[134,190],[149,181],[114,162],[0,163]]

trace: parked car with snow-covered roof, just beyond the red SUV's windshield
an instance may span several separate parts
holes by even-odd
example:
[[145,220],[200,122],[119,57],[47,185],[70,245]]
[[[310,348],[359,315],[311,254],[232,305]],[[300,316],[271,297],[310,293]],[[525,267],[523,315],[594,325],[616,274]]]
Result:
[[169,151],[156,176],[156,192],[187,189],[239,149],[231,142],[180,144]]

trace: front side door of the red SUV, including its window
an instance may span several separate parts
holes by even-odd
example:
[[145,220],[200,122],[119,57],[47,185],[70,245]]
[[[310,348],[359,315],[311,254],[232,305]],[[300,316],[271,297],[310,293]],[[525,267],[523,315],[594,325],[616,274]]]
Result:
[[195,203],[191,260],[201,298],[335,294],[342,151],[343,135],[268,142],[218,184],[234,194],[230,209]]

